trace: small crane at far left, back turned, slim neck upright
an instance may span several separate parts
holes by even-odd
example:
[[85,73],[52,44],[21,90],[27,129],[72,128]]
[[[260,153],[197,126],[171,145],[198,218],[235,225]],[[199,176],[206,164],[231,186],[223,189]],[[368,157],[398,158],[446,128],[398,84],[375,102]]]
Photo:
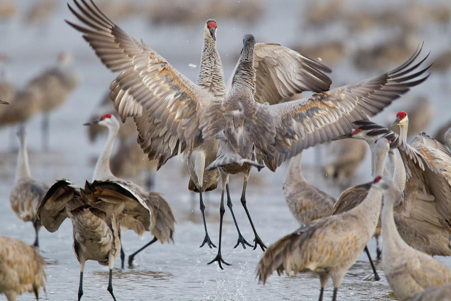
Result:
[[39,247],[38,231],[41,222],[38,220],[37,210],[45,195],[48,186],[31,177],[28,162],[26,132],[24,126],[20,126],[17,132],[19,139],[19,152],[17,156],[16,178],[10,194],[11,208],[24,222],[33,222],[36,239],[34,245]]

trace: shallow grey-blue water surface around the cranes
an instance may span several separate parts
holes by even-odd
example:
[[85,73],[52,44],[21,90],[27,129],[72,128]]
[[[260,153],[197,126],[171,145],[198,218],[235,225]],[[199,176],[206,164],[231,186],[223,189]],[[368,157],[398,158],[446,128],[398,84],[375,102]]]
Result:
[[[30,2],[23,2],[26,7]],[[284,2],[283,5],[265,4],[262,18],[272,18],[273,22],[261,21],[253,25],[235,23],[233,20],[220,21],[218,49],[225,64],[226,76],[233,68],[234,60],[241,49],[241,37],[252,32],[258,41],[278,42],[289,45],[294,38],[292,33],[299,33],[300,9],[292,9],[294,3]],[[299,9],[299,10],[298,10]],[[271,12],[277,12],[274,16]],[[2,46],[0,52],[7,53],[11,61],[6,64],[7,71],[20,86],[32,76],[51,65],[58,52],[70,50],[75,55],[77,69],[82,78],[80,86],[70,96],[68,102],[51,115],[51,144],[49,152],[41,151],[40,122],[41,116],[36,116],[27,125],[28,145],[32,175],[47,184],[55,180],[67,178],[79,185],[86,179],[90,180],[93,172],[92,156],[98,156],[104,143],[99,139],[89,144],[86,128],[82,126],[89,120],[89,115],[97,106],[98,101],[107,90],[114,74],[106,70],[80,38],[80,34],[69,28],[63,19],[75,20],[64,5],[60,6],[46,28],[30,29],[22,25],[20,15],[8,23],[0,31]],[[175,68],[194,80],[196,69],[188,67],[189,63],[198,65],[199,52],[202,44],[201,29],[203,23],[195,25],[149,25],[143,18],[118,22],[127,32],[143,40],[156,49]],[[123,26],[122,26],[123,25]],[[288,31],[287,31],[288,30]],[[446,41],[441,41],[441,31],[438,27],[426,28],[420,33],[420,39],[425,40],[425,49],[438,52],[445,49]],[[324,37],[339,34],[341,29],[330,29]],[[318,33],[324,30],[308,30],[302,32],[308,40],[319,40]],[[433,33],[433,34],[431,34]],[[315,37],[315,34],[317,35]],[[380,35],[378,33],[377,35]],[[376,35],[376,36],[377,36]],[[353,37],[347,36],[349,40]],[[356,37],[358,39],[360,37]],[[182,50],[182,51],[180,51]],[[331,77],[334,86],[366,78],[377,73],[364,74],[356,71],[349,64],[349,57],[344,62],[333,66]],[[387,68],[389,70],[389,68]],[[423,84],[412,89],[410,94],[427,94],[436,105],[436,114],[428,128],[435,128],[450,117],[451,105],[448,102],[449,85],[443,83],[449,79],[447,74],[432,74]],[[448,80],[449,84],[449,80]],[[395,105],[407,103],[408,98],[399,100]],[[399,103],[399,104],[398,104]],[[376,120],[388,118],[380,116]],[[391,119],[391,118],[390,118]],[[12,211],[9,204],[9,193],[15,173],[16,153],[10,151],[11,128],[0,130],[0,235],[18,237],[32,243],[34,231],[31,223],[23,223]],[[340,188],[325,180],[314,162],[314,149],[304,152],[303,170],[310,183],[338,197]],[[324,152],[324,148],[322,149]],[[216,254],[216,249],[199,248],[203,239],[203,225],[198,209],[198,195],[187,191],[188,179],[182,172],[186,166],[175,158],[168,162],[157,174],[155,190],[164,194],[174,212],[177,224],[174,243],[155,243],[135,257],[135,267],[120,269],[119,258],[113,270],[114,293],[118,300],[316,300],[319,293],[319,279],[314,274],[298,274],[288,278],[286,275],[271,276],[265,286],[255,279],[255,268],[262,255],[260,249],[252,250],[240,247],[233,249],[237,233],[230,212],[226,208],[222,233],[222,254],[225,261],[232,266],[221,270],[217,264],[206,265]],[[282,194],[286,165],[276,173],[263,170],[253,172],[248,185],[248,208],[255,222],[258,233],[269,245],[283,235],[295,230],[298,225],[291,216]],[[139,180],[139,179],[138,179]],[[369,158],[366,158],[353,180],[353,184],[369,180]],[[253,232],[246,214],[240,205],[242,178],[232,179],[232,200],[241,231],[245,238],[252,242]],[[219,224],[220,191],[205,194],[207,206],[207,227],[210,237],[217,245]],[[129,255],[140,246],[151,240],[150,233],[138,238],[132,232],[123,234],[123,245]],[[55,233],[49,233],[44,228],[40,231],[41,252],[48,262],[46,272],[47,293],[42,294],[44,300],[76,299],[79,281],[79,264],[72,251],[72,225],[66,220]],[[371,240],[369,249],[375,256],[375,243]],[[451,266],[449,258],[440,258]],[[379,263],[380,266],[380,263]],[[345,274],[339,289],[340,299],[346,300],[395,300],[383,271],[378,271],[381,280],[366,281],[370,276],[370,265],[364,254],[357,263]],[[84,273],[83,300],[111,300],[107,292],[108,268],[95,261],[87,261]],[[326,286],[325,300],[332,295],[331,281]],[[5,299],[0,295],[0,300]],[[21,300],[33,300],[34,295],[25,293]]]

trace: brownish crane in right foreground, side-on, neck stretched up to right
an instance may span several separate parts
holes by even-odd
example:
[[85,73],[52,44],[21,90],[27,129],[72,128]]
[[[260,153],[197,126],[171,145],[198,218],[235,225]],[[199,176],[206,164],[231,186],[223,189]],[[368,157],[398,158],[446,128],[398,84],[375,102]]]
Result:
[[[384,164],[389,148],[389,141],[385,138],[376,142],[380,165]],[[366,198],[355,208],[306,223],[271,245],[258,263],[259,281],[265,283],[274,270],[279,275],[284,270],[287,275],[291,271],[312,271],[320,276],[320,301],[324,286],[332,276],[332,300],[335,300],[344,273],[357,260],[376,228],[382,191],[374,184],[379,180],[380,177],[376,177]]]

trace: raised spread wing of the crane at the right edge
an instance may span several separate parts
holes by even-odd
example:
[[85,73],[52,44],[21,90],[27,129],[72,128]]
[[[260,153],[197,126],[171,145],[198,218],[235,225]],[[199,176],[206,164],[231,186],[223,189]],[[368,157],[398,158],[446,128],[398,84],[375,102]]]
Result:
[[[451,233],[451,186],[446,171],[439,168],[445,169],[446,160],[449,162],[447,149],[425,133],[415,136],[411,146],[388,128],[369,120],[355,123],[361,129],[373,129],[367,135],[384,135],[391,141],[390,147],[399,150],[407,176],[403,206],[408,207],[409,216]],[[434,210],[425,210],[430,206]]]

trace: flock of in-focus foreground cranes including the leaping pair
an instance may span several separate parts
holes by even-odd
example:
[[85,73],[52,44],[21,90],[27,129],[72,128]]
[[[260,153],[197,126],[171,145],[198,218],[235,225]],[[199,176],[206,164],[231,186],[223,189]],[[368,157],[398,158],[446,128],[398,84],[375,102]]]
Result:
[[[235,247],[266,249],[257,266],[263,283],[274,270],[279,274],[315,272],[321,282],[319,300],[330,277],[332,300],[336,300],[345,272],[362,250],[369,256],[366,244],[382,232],[378,257],[382,255],[382,268],[396,295],[402,300],[433,297],[436,301],[449,296],[451,270],[431,255],[451,255],[451,154],[423,132],[407,144],[405,112],[399,112],[393,122],[400,127],[399,136],[367,120],[427,79],[430,65],[421,67],[428,57],[420,57],[422,47],[389,72],[329,90],[331,80],[325,73],[330,69],[325,65],[278,44],[256,43],[253,35],[245,35],[240,59],[226,84],[215,44],[217,23],[209,19],[199,74],[193,83],[144,42],[127,35],[92,0],[74,0],[74,4],[68,5],[69,10],[82,25],[66,22],[83,34],[107,68],[120,72],[110,86],[110,98],[123,122],[133,117],[137,143],[148,159],[155,160],[159,169],[174,156],[186,156],[188,189],[199,193],[203,218],[205,236],[200,247],[216,247],[208,235],[202,194],[216,189],[220,180],[219,242],[217,255],[208,264],[217,262],[221,269],[222,264],[230,265],[221,254],[227,194],[238,232]],[[285,101],[303,91],[314,94]],[[36,247],[41,225],[55,232],[66,218],[71,219],[73,249],[80,262],[78,300],[83,295],[86,260],[108,265],[107,290],[116,300],[112,268],[119,254],[124,266],[121,233],[132,229],[138,235],[144,231],[154,235],[129,256],[132,265],[136,253],[148,245],[172,240],[175,218],[160,193],[111,172],[110,157],[120,128],[114,114],[104,114],[85,125],[108,128],[92,182],[79,187],[61,179],[48,188],[33,180],[21,128],[10,200],[21,219],[33,222]],[[48,129],[48,121],[43,128]],[[346,189],[335,201],[307,183],[301,172],[301,153],[318,143],[350,137],[368,143],[374,180]],[[445,141],[451,147],[451,129]],[[396,154],[393,175],[385,168],[389,152]],[[300,228],[267,247],[246,205],[247,184],[253,167],[274,172],[289,159],[283,192]],[[229,175],[233,174],[243,174],[241,203],[255,235],[253,244],[242,235],[232,209]],[[0,242],[0,292],[10,301],[25,290],[38,297],[40,287],[45,289],[45,262],[36,248],[19,246],[23,243],[7,237],[0,237]],[[444,297],[440,299],[440,295]]]

